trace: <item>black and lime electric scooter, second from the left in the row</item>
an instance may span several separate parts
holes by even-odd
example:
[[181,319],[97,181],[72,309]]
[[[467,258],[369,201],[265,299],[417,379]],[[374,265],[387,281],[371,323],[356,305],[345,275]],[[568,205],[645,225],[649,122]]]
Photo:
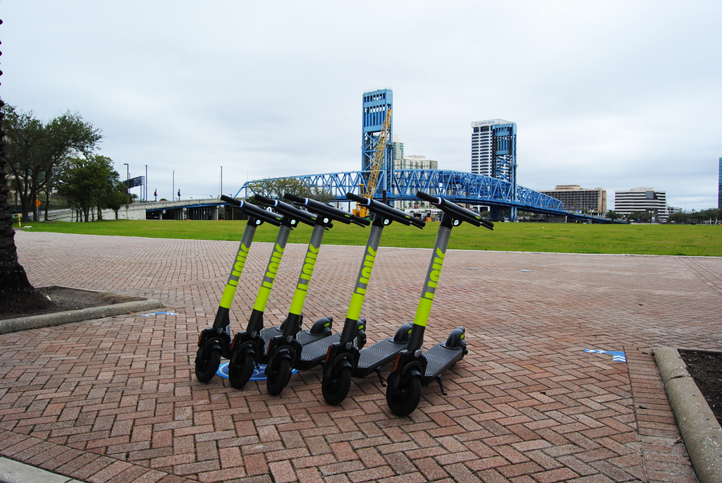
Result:
[[[251,375],[253,375],[253,368],[256,367],[257,364],[264,364],[266,362],[266,346],[269,341],[274,338],[274,336],[283,334],[284,326],[288,323],[288,319],[286,319],[286,321],[284,321],[284,323],[282,323],[279,327],[264,328],[264,310],[266,310],[266,304],[268,303],[271,288],[273,287],[274,280],[276,279],[276,274],[285,251],[290,232],[299,222],[314,227],[318,221],[313,214],[284,203],[283,201],[269,199],[258,194],[254,197],[257,201],[261,201],[261,203],[271,206],[272,209],[276,210],[279,214],[282,214],[283,222],[281,224],[281,228],[279,229],[276,243],[274,243],[273,252],[271,253],[268,266],[266,266],[263,282],[261,283],[261,287],[258,289],[256,302],[253,304],[253,311],[251,312],[251,318],[248,319],[248,326],[245,328],[245,331],[235,334],[235,338],[231,344],[230,362],[228,363],[228,380],[230,381],[231,386],[238,389],[243,388],[245,383],[248,383]],[[327,228],[333,226],[334,225],[331,222],[326,224]],[[300,327],[303,324],[302,313],[298,319],[296,339],[302,346],[304,346],[305,344],[310,344],[318,339],[323,339],[323,337],[330,336],[333,322],[333,317],[323,317],[313,323],[313,326],[310,329],[301,331]]]

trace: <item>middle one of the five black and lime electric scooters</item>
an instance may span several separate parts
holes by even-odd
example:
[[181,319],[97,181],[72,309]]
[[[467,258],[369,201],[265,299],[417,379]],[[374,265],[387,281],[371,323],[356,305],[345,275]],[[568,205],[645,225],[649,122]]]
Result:
[[293,294],[293,300],[283,334],[271,339],[266,349],[266,356],[268,357],[265,370],[266,388],[271,395],[279,394],[283,391],[283,388],[286,387],[288,380],[291,378],[291,367],[297,364],[303,349],[300,342],[296,339],[298,329],[297,321],[303,309],[303,303],[306,299],[306,292],[311,275],[313,274],[313,268],[316,266],[316,257],[318,256],[319,248],[321,248],[323,231],[326,225],[334,220],[347,225],[354,223],[361,227],[371,224],[371,222],[365,218],[357,217],[354,214],[344,212],[342,209],[334,208],[334,206],[321,203],[314,199],[302,198],[290,193],[285,193],[284,198],[304,205],[310,212],[316,213],[316,226],[313,227],[313,234],[308,244],[303,269]]

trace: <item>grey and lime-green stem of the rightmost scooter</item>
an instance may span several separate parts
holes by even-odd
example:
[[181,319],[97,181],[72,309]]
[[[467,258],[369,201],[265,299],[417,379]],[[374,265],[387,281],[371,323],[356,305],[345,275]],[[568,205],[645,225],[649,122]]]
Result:
[[436,235],[436,243],[434,244],[434,251],[431,255],[429,269],[426,272],[424,290],[421,292],[419,306],[416,309],[416,316],[414,316],[414,326],[411,331],[411,336],[409,336],[409,345],[407,347],[409,352],[416,352],[418,349],[421,349],[421,346],[424,344],[424,331],[426,329],[426,323],[429,321],[436,285],[439,282],[441,266],[443,266],[446,247],[451,236],[451,222],[452,216],[444,213],[441,217],[438,235]]

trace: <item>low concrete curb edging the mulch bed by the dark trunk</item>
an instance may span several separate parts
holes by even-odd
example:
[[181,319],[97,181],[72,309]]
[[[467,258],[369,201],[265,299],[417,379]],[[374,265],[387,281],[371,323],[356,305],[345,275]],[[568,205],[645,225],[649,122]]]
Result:
[[164,305],[157,300],[136,300],[134,302],[103,305],[102,307],[83,308],[69,312],[45,313],[41,316],[8,318],[0,321],[0,334],[25,331],[29,328],[42,328],[59,326],[63,323],[89,321],[93,318],[121,316],[131,312],[142,312],[163,308]]

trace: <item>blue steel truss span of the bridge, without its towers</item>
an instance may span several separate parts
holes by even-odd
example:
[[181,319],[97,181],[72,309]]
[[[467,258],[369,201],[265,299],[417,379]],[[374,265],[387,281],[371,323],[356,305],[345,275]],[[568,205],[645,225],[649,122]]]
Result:
[[[518,186],[498,178],[449,170],[389,170],[382,173],[379,186],[388,186],[386,201],[418,200],[417,191],[424,191],[432,196],[440,196],[455,203],[489,206],[492,218],[495,214],[506,213],[510,219],[516,219],[516,212],[532,212],[536,214],[560,215],[573,219],[588,220],[596,223],[609,223],[611,220],[591,217],[586,214],[567,212],[558,199],[538,191]],[[271,180],[252,180],[245,183],[235,197],[247,198],[253,194],[269,196],[264,191],[267,181],[294,178],[308,188],[320,188],[334,196],[334,201],[349,201],[347,192],[359,194],[360,186],[366,186],[370,171],[347,171],[345,173],[326,173],[319,175],[284,176]],[[266,181],[266,182],[264,182]],[[268,183],[269,184],[269,183]],[[374,199],[383,199],[379,188]]]

